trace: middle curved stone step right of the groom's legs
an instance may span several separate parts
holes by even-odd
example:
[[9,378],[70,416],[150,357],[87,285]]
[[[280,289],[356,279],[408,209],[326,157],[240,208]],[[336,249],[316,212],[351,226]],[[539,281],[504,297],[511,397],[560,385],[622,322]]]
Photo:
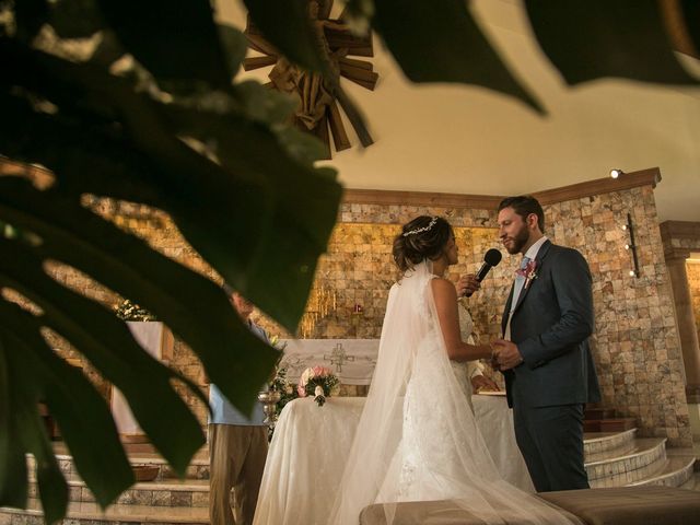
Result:
[[[632,442],[631,448],[626,445],[621,450],[591,454],[585,459],[588,480],[653,468],[650,465],[666,458],[665,444],[665,438],[638,438]],[[635,474],[642,475],[644,471]],[[642,477],[646,477],[646,475],[644,474]]]

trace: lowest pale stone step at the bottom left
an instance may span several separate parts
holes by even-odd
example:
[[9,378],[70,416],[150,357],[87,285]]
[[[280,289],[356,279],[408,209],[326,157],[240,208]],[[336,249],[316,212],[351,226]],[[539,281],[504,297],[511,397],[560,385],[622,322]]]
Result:
[[[178,525],[200,525],[209,523],[209,509],[166,508],[149,505],[112,505],[103,511],[96,503],[68,505],[68,517],[61,525],[104,525],[108,522],[153,525],[174,523]],[[26,510],[0,509],[0,525],[45,525],[38,500],[31,499]]]

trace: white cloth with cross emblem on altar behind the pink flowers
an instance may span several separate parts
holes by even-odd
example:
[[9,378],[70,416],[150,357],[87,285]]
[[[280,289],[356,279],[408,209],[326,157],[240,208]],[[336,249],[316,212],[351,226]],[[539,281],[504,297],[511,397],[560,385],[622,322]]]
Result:
[[287,377],[294,383],[304,369],[316,365],[331,369],[346,385],[372,382],[378,339],[285,339],[283,342],[287,347],[280,366],[287,368]]

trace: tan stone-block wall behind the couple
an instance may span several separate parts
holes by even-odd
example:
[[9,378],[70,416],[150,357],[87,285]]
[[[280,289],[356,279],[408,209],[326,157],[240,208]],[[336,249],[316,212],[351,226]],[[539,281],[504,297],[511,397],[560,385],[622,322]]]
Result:
[[[550,238],[579,249],[591,266],[596,314],[592,348],[604,404],[637,418],[640,435],[667,436],[672,445],[689,446],[691,434],[680,349],[652,186],[564,200],[548,205],[545,210],[546,233]],[[100,211],[109,215],[114,210]],[[639,278],[629,276],[631,254],[623,248],[627,238],[620,226],[628,212],[632,213],[635,226]],[[218,279],[166,217],[142,207],[114,213],[116,222],[121,221],[124,228],[143,236],[156,249]],[[308,337],[378,337],[388,288],[397,277],[390,261],[390,241],[399,224],[418,214],[440,214],[455,226],[460,264],[453,268],[453,278],[476,271],[483,253],[498,246],[493,209],[346,202],[328,253],[318,266],[316,281],[319,292],[335,293],[335,305],[328,303],[332,307],[316,319]],[[485,280],[482,291],[470,301],[482,338],[499,336],[515,265],[515,257],[504,257]],[[106,306],[119,299],[79,272],[60,268],[56,271],[67,285]],[[351,313],[355,305],[362,306],[363,315]],[[284,336],[268,319],[259,317],[269,331]],[[56,348],[71,358],[79,357],[61,341],[56,342]],[[197,358],[179,341],[172,364],[206,388]],[[205,407],[191,394],[180,392],[203,424]]]

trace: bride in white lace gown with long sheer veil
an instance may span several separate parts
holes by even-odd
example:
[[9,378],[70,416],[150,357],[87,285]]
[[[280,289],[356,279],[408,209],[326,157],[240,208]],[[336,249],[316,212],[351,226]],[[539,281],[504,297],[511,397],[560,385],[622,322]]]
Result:
[[457,294],[442,276],[457,262],[450,223],[421,215],[394,241],[404,272],[389,292],[372,386],[338,487],[331,520],[357,525],[383,503],[452,500],[488,524],[572,523],[544,501],[503,481],[476,425],[466,361],[488,346],[463,342]]

